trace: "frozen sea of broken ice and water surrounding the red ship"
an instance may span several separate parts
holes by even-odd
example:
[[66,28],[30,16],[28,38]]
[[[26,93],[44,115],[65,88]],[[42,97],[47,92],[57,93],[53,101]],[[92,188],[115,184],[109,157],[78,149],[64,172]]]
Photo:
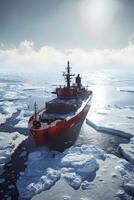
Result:
[[64,84],[58,73],[0,75],[0,199],[133,199],[134,74],[82,74],[92,106],[77,141],[58,152],[27,129],[34,102],[42,108]]

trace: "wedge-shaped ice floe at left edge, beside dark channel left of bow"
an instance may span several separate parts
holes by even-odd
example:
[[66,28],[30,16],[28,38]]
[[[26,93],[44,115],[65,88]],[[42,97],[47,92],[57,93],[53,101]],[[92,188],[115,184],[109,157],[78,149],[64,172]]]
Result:
[[4,165],[10,160],[15,149],[26,138],[18,132],[0,132],[0,174],[2,174]]

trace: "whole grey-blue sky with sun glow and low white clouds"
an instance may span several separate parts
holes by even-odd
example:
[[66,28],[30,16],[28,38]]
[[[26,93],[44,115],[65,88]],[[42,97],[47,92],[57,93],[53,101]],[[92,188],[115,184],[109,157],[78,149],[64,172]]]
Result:
[[134,0],[0,0],[0,67],[131,65]]

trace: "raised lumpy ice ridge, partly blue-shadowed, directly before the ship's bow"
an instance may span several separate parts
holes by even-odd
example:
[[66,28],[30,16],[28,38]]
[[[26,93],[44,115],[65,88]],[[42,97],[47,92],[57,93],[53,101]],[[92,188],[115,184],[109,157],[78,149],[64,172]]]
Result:
[[64,179],[78,189],[88,179],[94,179],[99,169],[97,159],[105,159],[102,150],[94,146],[71,147],[63,153],[36,151],[29,154],[28,165],[17,182],[21,198],[31,198],[50,189]]

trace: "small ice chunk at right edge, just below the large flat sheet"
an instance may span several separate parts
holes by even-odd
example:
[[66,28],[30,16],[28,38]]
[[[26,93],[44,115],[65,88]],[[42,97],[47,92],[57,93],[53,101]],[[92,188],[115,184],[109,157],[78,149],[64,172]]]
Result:
[[120,144],[119,151],[126,160],[134,164],[134,137],[130,139],[128,144]]

